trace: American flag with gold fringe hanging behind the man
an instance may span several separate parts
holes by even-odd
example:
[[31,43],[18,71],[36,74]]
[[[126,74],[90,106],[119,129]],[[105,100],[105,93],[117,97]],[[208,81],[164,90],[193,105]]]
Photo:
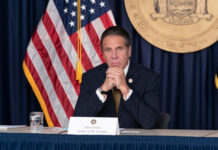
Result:
[[[76,77],[77,0],[50,0],[30,42],[24,73],[39,100],[48,126],[67,127],[80,84]],[[105,62],[102,32],[115,25],[106,0],[81,0],[83,72]]]

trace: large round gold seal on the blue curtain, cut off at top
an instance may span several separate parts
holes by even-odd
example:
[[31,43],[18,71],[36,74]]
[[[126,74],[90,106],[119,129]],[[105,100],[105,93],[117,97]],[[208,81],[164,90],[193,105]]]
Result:
[[125,0],[135,29],[160,49],[187,53],[218,39],[218,0]]

